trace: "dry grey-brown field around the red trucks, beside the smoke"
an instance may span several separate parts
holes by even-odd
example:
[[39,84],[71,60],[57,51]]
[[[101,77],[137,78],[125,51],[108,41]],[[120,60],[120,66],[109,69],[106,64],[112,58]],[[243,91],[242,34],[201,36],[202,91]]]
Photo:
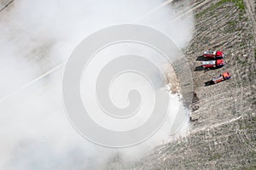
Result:
[[[191,1],[195,33],[186,56],[194,79],[191,132],[138,162],[120,159],[107,169],[255,169],[256,168],[256,2]],[[204,50],[223,50],[223,68],[201,71]],[[230,71],[231,79],[205,82]]]

